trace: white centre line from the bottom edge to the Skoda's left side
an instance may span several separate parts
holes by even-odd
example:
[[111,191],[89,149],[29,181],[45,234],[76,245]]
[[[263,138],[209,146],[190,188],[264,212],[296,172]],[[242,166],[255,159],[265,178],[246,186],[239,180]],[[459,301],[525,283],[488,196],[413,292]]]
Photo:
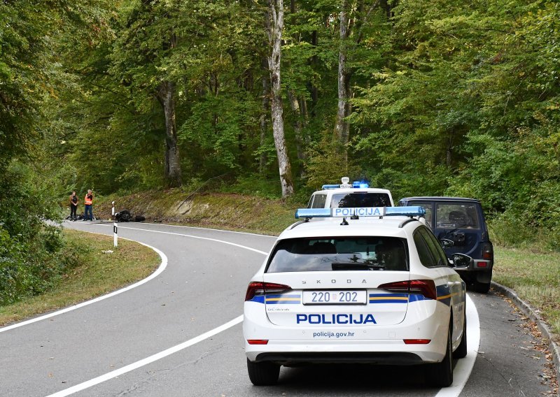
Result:
[[106,373],[105,375],[101,375],[99,377],[94,377],[92,380],[87,380],[86,382],[76,384],[76,386],[69,387],[68,389],[58,391],[55,394],[50,394],[47,397],[69,396],[70,394],[77,393],[78,391],[82,391],[84,389],[87,389],[88,387],[92,387],[92,386],[95,386],[96,384],[105,382],[107,380],[111,380],[114,377],[118,377],[118,376],[123,375],[125,373],[128,373],[132,370],[138,369],[142,366],[146,366],[149,363],[153,363],[154,361],[157,361],[159,359],[163,359],[164,357],[167,357],[170,354],[174,354],[176,352],[179,352],[180,350],[186,349],[187,347],[193,346],[198,342],[202,342],[203,340],[208,339],[211,336],[216,335],[217,333],[221,333],[222,331],[225,331],[226,329],[229,329],[232,326],[235,326],[242,321],[243,321],[243,316],[241,315],[239,317],[236,317],[235,319],[232,319],[230,322],[227,322],[227,323],[225,323],[221,326],[218,326],[217,328],[215,328],[211,331],[202,333],[202,335],[198,335],[197,337],[195,337],[193,339],[189,339],[186,342],[183,342],[183,343],[181,343],[179,345],[176,345],[174,347],[169,347],[169,349],[166,349],[163,352],[153,354],[153,356],[146,357],[146,359],[141,359],[141,360],[139,360],[135,363],[124,366],[123,368],[119,368],[118,370],[114,370],[114,371],[111,371],[110,373]]

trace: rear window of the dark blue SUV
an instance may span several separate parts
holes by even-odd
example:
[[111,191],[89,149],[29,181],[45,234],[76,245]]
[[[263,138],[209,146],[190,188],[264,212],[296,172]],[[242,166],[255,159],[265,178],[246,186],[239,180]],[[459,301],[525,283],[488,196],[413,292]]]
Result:
[[436,203],[437,229],[480,229],[477,203]]

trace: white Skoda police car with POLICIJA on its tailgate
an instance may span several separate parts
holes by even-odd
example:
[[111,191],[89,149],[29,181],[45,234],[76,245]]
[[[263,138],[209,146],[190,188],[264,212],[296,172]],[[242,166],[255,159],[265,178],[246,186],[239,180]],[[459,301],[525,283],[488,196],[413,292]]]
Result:
[[465,283],[423,212],[297,210],[305,221],[281,233],[246,292],[251,382],[275,384],[281,365],[379,363],[426,364],[430,384],[449,386],[451,357],[467,353]]

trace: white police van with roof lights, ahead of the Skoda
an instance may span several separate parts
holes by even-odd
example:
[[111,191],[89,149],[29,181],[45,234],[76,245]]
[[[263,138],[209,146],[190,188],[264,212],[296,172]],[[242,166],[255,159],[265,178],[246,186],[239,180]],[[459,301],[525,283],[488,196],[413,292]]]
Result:
[[392,207],[393,196],[387,189],[370,187],[367,182],[349,183],[342,178],[340,185],[323,185],[321,190],[311,194],[307,208],[356,208]]

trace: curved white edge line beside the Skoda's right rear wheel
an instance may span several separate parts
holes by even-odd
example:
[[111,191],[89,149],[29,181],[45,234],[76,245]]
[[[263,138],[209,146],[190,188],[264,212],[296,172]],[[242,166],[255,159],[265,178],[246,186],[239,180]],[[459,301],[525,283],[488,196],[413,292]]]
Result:
[[475,366],[480,345],[480,321],[475,303],[467,295],[467,356],[457,360],[453,370],[453,384],[441,389],[435,397],[458,397]]

